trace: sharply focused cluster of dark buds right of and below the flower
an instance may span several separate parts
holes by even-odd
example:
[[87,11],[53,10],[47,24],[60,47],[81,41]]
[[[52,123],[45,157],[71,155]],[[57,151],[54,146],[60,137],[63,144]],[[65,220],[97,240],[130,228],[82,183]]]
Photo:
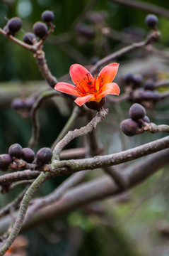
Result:
[[129,119],[124,119],[120,124],[120,129],[124,134],[132,137],[136,134],[142,134],[144,132],[141,129],[143,126],[150,122],[146,116],[146,110],[138,103],[134,103],[129,109]]

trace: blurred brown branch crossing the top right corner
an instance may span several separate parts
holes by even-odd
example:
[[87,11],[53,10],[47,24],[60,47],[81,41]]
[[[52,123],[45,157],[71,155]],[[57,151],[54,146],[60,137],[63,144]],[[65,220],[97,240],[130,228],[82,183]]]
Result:
[[153,14],[161,15],[166,18],[169,18],[169,11],[167,9],[162,8],[161,6],[157,6],[155,4],[146,3],[143,1],[134,1],[134,0],[110,0],[117,4],[124,4],[130,7],[134,7],[140,10],[148,11]]

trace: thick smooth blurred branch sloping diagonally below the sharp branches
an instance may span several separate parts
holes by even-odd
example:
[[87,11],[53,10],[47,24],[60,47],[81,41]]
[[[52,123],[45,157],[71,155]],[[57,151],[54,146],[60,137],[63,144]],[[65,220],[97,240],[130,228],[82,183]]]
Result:
[[[108,176],[71,188],[71,190],[67,191],[59,201],[52,204],[48,201],[48,206],[36,211],[32,215],[33,218],[24,223],[23,229],[31,228],[31,226],[37,225],[38,223],[43,223],[44,220],[47,221],[52,218],[57,218],[58,216],[68,213],[71,210],[75,210],[76,208],[80,208],[91,201],[104,199],[107,198],[107,196],[115,196],[136,186],[138,183],[145,181],[149,176],[155,174],[158,169],[163,168],[165,164],[168,164],[168,154],[169,149],[163,150],[126,169],[123,172],[127,184],[125,188],[118,186],[117,183],[113,182]],[[30,206],[30,210],[31,207],[32,206]]]

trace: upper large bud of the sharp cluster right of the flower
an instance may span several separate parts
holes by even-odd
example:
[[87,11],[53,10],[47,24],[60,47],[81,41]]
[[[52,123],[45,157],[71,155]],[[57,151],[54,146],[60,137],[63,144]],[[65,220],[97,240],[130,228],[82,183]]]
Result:
[[145,115],[146,110],[139,103],[134,103],[134,105],[132,105],[132,107],[130,107],[129,109],[129,117],[131,117],[135,121],[144,118]]

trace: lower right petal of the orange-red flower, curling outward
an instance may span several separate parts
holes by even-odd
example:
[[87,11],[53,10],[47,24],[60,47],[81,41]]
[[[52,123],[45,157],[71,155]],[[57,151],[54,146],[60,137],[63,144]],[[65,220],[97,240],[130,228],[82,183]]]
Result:
[[109,82],[102,87],[102,92],[97,96],[97,98],[102,98],[105,95],[119,95],[120,87],[115,82]]

